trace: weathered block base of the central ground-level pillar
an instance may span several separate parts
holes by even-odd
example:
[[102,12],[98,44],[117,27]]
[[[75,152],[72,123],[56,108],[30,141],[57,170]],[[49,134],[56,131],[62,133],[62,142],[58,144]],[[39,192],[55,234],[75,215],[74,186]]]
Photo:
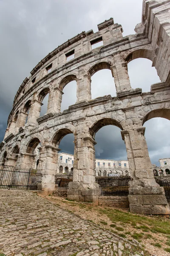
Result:
[[81,182],[69,183],[67,198],[77,202],[94,203],[98,201],[98,195],[101,195],[99,184],[92,183],[90,187]]

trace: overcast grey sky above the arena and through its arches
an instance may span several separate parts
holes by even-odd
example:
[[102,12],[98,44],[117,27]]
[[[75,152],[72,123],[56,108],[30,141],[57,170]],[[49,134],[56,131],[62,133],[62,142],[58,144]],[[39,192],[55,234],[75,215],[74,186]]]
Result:
[[[96,32],[97,24],[110,17],[114,23],[122,24],[124,36],[133,34],[141,15],[142,0],[0,0],[0,141],[20,84],[48,52],[82,31]],[[147,59],[128,64],[131,87],[150,91],[150,85],[159,82],[151,64]],[[92,98],[108,94],[116,96],[114,79],[110,70],[101,70],[92,76]],[[41,115],[45,113],[45,102],[47,99]],[[73,81],[64,88],[62,111],[75,102]],[[151,161],[158,165],[159,158],[170,157],[170,122],[155,118],[144,126]],[[71,136],[63,138],[59,147],[73,154]],[[95,140],[97,158],[127,159],[119,128],[104,127]]]

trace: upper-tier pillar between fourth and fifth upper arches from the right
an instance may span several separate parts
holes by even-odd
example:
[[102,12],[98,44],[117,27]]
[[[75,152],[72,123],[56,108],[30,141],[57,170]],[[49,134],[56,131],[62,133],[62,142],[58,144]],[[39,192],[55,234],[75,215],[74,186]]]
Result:
[[40,111],[41,111],[41,106],[42,102],[40,102],[37,99],[34,99],[31,108],[28,114],[28,121],[27,125],[38,125],[37,119],[40,117]]

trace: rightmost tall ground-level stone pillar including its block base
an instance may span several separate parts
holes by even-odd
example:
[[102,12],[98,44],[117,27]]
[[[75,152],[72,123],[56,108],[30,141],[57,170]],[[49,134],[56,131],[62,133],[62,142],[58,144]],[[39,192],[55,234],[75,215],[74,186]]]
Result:
[[153,169],[144,137],[144,127],[122,131],[125,140],[130,175],[129,182],[130,212],[139,214],[170,214],[169,205],[153,176]]

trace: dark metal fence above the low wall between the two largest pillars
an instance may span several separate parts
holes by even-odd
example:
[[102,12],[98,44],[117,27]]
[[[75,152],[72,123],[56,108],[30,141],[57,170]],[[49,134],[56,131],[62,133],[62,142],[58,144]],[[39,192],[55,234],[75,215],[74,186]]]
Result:
[[129,176],[96,177],[96,183],[101,186],[101,195],[128,195]]

